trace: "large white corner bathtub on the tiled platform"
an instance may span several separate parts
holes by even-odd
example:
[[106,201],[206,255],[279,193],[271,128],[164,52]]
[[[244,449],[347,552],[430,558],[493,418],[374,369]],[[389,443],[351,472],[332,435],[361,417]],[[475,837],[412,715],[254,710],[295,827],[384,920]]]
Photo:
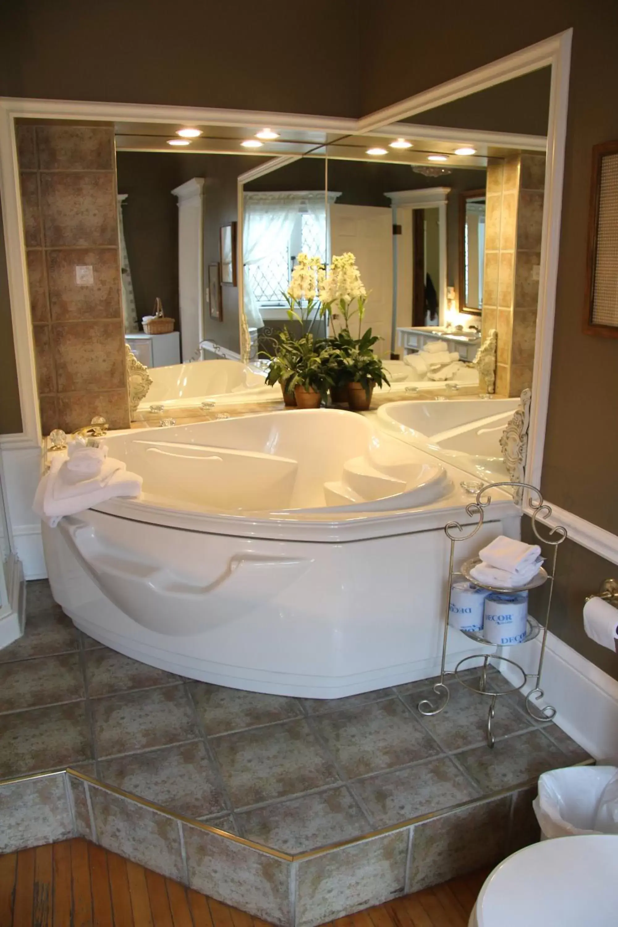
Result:
[[[138,660],[255,692],[336,698],[439,667],[448,542],[469,521],[458,470],[379,435],[364,416],[276,412],[112,435],[144,476],[43,526],[54,598]],[[492,521],[519,512],[495,492]],[[478,650],[451,631],[450,658]]]

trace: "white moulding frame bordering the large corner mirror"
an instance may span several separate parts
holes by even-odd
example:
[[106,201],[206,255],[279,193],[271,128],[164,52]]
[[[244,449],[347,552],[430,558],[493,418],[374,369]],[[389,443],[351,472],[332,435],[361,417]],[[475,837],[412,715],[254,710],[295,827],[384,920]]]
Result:
[[[23,430],[2,436],[0,445],[6,448],[33,448],[41,443],[41,425],[38,411],[32,322],[26,273],[26,252],[19,203],[19,170],[15,121],[19,118],[93,120],[93,121],[151,121],[191,124],[194,122],[221,126],[261,127],[274,129],[306,129],[323,133],[400,134],[397,121],[442,106],[462,96],[471,95],[498,83],[512,80],[540,68],[551,67],[549,99],[549,127],[547,142],[547,174],[543,213],[543,246],[541,251],[540,290],[536,324],[536,353],[533,379],[530,436],[526,479],[538,485],[543,462],[543,443],[549,398],[549,375],[556,298],[556,279],[560,248],[561,196],[568,107],[569,69],[572,30],[561,32],[543,42],[524,48],[508,57],[500,58],[459,78],[403,100],[394,106],[362,117],[359,120],[332,117],[305,116],[289,113],[265,113],[233,109],[159,107],[141,104],[90,103],[61,100],[33,100],[26,98],[0,98],[0,184],[5,224],[6,260],[11,316],[15,338],[19,399]],[[410,124],[406,125],[410,132]],[[414,131],[421,129],[414,125]],[[429,137],[448,137],[448,130],[429,130]],[[460,130],[450,133],[460,135]],[[495,138],[495,133],[466,132],[466,137],[479,141]],[[427,131],[423,128],[423,135]],[[506,144],[506,136],[502,136]],[[511,136],[513,142],[517,136]],[[536,140],[538,141],[538,140]],[[288,159],[273,159],[263,165],[273,170]],[[262,171],[265,172],[265,171]],[[247,177],[245,180],[248,179]],[[242,192],[242,184],[239,184]],[[242,210],[239,196],[239,210]],[[242,211],[239,211],[239,221]],[[239,241],[239,267],[242,268],[242,235]],[[239,273],[242,281],[242,273]],[[242,283],[239,286],[242,300]],[[242,305],[242,302],[241,302]],[[246,324],[241,337],[246,338]]]

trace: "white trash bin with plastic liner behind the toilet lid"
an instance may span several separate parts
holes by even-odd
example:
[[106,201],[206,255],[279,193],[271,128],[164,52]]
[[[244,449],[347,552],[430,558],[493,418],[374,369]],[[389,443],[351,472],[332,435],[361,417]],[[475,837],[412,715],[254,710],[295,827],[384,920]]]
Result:
[[618,834],[618,768],[572,766],[544,772],[532,805],[541,840]]

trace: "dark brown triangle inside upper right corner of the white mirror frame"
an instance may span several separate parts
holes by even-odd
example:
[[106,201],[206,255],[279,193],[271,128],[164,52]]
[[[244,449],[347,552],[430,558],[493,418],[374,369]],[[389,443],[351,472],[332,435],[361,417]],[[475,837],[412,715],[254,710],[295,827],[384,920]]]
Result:
[[541,68],[476,94],[463,96],[445,106],[425,109],[404,122],[485,132],[545,135],[549,121],[550,81],[551,68]]

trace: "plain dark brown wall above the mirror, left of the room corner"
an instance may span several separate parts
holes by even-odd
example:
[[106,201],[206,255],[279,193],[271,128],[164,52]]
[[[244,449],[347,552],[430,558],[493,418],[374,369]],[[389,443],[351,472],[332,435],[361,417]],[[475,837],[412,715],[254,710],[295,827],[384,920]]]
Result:
[[355,0],[7,0],[0,43],[3,96],[359,109]]

